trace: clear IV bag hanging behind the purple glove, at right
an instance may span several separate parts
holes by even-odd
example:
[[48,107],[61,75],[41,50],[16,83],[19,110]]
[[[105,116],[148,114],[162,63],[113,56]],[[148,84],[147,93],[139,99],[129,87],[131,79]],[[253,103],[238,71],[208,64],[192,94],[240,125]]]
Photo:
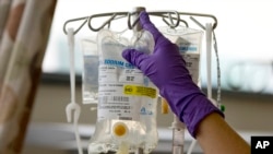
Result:
[[203,32],[188,27],[161,27],[159,31],[179,47],[194,83],[200,82],[200,59]]

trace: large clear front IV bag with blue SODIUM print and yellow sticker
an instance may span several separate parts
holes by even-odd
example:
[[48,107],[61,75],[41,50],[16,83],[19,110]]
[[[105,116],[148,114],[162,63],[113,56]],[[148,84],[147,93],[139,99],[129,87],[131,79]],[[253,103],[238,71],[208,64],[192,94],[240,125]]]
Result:
[[102,29],[97,34],[98,104],[95,132],[88,153],[150,153],[158,142],[156,103],[158,90],[122,58],[122,50],[152,52],[153,36],[141,31],[131,39]]

